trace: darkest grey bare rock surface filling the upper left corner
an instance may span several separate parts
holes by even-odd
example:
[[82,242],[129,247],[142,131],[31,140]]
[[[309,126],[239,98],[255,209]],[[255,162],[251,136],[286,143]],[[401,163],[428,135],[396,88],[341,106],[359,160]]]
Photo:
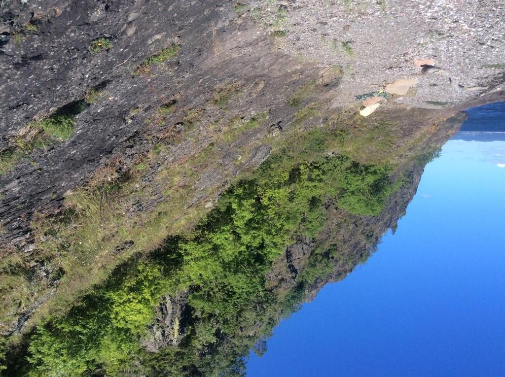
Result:
[[[26,233],[34,209],[58,205],[66,190],[82,184],[115,150],[141,150],[135,143],[142,124],[127,124],[125,118],[132,107],[143,105],[149,112],[149,107],[174,95],[176,80],[156,85],[153,93],[153,85],[132,78],[131,72],[146,57],[179,42],[186,47],[172,67],[180,73],[177,79],[194,73],[203,43],[193,36],[205,35],[209,23],[223,12],[220,3],[3,4],[0,149],[32,119],[82,99],[90,88],[105,83],[114,97],[107,106],[81,113],[69,141],[37,150],[31,156],[34,164],[25,160],[2,178],[0,218],[8,240]],[[25,31],[30,22],[37,31]],[[107,37],[113,46],[93,55],[89,46],[99,37]]]

